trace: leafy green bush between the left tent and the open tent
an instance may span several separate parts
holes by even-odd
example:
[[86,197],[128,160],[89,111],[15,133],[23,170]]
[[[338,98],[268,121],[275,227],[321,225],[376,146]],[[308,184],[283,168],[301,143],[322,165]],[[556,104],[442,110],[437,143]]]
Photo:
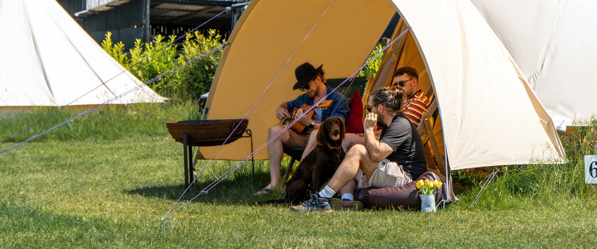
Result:
[[[198,100],[201,94],[209,91],[221,57],[221,50],[208,55],[205,53],[226,41],[213,29],[207,35],[198,31],[187,34],[180,51],[179,46],[174,44],[176,36],[169,36],[168,41],[164,39],[164,36],[158,35],[152,42],[144,44],[137,39],[134,48],[127,54],[124,52],[124,44],[114,44],[112,33],[107,32],[101,47],[143,82],[149,82],[180,67],[179,70],[150,82],[149,87],[171,99]],[[183,66],[199,56],[204,57]]]

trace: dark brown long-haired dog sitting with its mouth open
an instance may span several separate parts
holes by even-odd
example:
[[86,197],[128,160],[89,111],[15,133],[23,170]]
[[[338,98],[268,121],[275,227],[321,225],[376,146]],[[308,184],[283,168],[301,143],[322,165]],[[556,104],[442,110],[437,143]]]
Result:
[[298,204],[310,193],[321,189],[331,179],[346,156],[342,149],[344,121],[332,116],[324,120],[317,132],[317,146],[298,164],[285,187],[286,200]]

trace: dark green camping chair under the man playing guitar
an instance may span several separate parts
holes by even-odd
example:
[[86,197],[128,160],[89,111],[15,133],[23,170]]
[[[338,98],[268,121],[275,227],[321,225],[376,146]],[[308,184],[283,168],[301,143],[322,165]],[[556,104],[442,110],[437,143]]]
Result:
[[[327,81],[325,83],[328,84],[328,87],[332,87],[332,88],[338,87],[337,91],[340,93],[343,93],[344,96],[346,96],[346,98],[350,102],[352,100],[352,96],[355,94],[355,92],[357,90],[359,91],[360,94],[362,94],[364,92],[365,86],[367,85],[367,82],[369,82],[371,78],[373,78],[373,77],[372,76],[362,76],[362,77],[356,77],[356,78],[354,78],[354,80],[349,79],[341,87],[338,87],[338,85],[340,85],[342,82],[344,82],[344,80],[346,80],[346,78],[327,79]],[[361,122],[362,122],[362,118],[361,118]],[[284,153],[286,155],[290,156],[290,162],[288,162],[288,166],[286,167],[286,173],[284,173],[284,177],[282,177],[282,184],[286,184],[286,182],[288,181],[288,177],[290,177],[290,174],[292,173],[293,168],[294,168],[294,162],[300,162],[303,152],[304,152],[304,148],[302,148],[302,147],[284,148]]]

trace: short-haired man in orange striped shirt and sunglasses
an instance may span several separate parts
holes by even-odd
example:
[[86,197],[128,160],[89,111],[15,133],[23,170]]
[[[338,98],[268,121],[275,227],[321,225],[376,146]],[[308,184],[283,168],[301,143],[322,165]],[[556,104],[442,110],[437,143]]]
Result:
[[431,103],[418,86],[417,69],[405,66],[396,70],[392,87],[397,86],[404,88],[404,93],[408,96],[404,107],[402,107],[404,116],[413,121],[415,127],[418,127],[421,124],[421,117],[429,110]]

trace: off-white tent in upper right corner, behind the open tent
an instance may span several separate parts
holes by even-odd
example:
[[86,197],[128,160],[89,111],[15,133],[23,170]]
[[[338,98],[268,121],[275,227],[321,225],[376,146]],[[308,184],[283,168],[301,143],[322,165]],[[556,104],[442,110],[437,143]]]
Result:
[[522,75],[565,130],[595,119],[597,2],[472,1],[514,58]]

